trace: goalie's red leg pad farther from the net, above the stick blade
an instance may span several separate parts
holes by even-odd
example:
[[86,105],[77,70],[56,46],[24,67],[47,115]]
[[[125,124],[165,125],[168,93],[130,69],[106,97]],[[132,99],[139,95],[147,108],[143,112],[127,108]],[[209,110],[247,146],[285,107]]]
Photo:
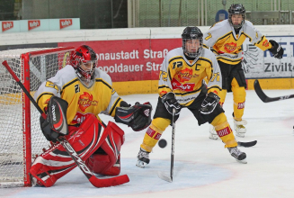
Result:
[[106,139],[91,157],[86,165],[95,173],[102,175],[120,174],[120,147],[124,142],[124,131],[114,122],[109,121],[105,132]]

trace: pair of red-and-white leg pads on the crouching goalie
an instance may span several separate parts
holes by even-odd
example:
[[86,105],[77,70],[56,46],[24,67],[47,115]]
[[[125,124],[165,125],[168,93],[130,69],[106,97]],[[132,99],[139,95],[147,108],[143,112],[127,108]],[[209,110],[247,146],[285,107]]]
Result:
[[[111,160],[109,160],[109,164],[98,163],[98,165],[104,166],[105,168],[101,169],[105,172],[107,167],[113,166],[119,158],[124,132],[115,123],[110,121],[108,126],[104,128],[93,114],[88,114],[78,128],[69,126],[68,130],[69,135],[66,138],[83,161],[88,159],[98,148],[104,148]],[[75,161],[58,143],[34,160],[30,173],[37,180],[37,184],[49,187],[75,167]],[[93,170],[94,166],[90,168]]]

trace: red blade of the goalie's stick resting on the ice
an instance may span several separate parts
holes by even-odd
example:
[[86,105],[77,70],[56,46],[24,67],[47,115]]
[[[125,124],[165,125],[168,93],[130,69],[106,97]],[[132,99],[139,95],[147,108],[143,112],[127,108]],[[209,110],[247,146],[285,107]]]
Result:
[[120,184],[126,184],[129,182],[129,176],[128,175],[120,175],[116,177],[111,177],[107,179],[98,179],[94,175],[92,175],[89,178],[89,181],[91,184],[93,184],[97,188],[103,188],[103,187],[110,187]]

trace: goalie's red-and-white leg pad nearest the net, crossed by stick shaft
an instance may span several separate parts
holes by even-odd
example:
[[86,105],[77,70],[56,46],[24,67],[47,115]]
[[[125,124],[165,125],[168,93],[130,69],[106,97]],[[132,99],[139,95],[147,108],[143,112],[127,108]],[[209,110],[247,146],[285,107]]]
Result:
[[[80,127],[70,127],[69,130],[70,135],[66,138],[83,160],[102,145],[107,135],[102,123],[93,114],[87,115]],[[75,161],[58,143],[35,159],[30,173],[37,179],[37,184],[49,187],[75,167]]]

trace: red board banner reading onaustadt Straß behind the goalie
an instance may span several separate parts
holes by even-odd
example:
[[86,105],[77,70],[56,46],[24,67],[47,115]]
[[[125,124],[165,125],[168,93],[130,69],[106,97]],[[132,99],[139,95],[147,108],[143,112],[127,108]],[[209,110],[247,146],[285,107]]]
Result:
[[167,52],[181,47],[182,39],[98,40],[63,42],[58,47],[89,45],[98,55],[98,67],[113,82],[158,80]]

